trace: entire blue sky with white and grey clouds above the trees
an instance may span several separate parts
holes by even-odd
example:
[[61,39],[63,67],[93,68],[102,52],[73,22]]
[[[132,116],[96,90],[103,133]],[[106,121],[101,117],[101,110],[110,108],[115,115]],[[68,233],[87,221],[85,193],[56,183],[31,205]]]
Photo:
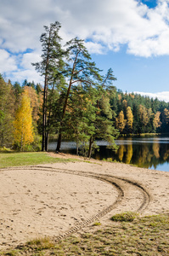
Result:
[[41,82],[43,26],[58,20],[63,41],[76,36],[117,89],[169,102],[169,0],[0,0],[0,73]]

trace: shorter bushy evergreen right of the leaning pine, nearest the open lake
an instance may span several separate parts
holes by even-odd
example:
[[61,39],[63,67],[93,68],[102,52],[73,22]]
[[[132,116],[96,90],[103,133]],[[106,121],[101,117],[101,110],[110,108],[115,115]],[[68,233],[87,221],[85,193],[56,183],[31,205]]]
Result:
[[110,106],[110,96],[115,96],[115,81],[113,71],[110,68],[106,75],[103,77],[101,85],[97,89],[96,93],[96,104],[93,119],[93,130],[89,140],[88,157],[91,157],[93,143],[96,138],[104,139],[109,143],[109,148],[116,149],[115,138],[118,137],[119,133],[115,129],[114,122],[115,113]]

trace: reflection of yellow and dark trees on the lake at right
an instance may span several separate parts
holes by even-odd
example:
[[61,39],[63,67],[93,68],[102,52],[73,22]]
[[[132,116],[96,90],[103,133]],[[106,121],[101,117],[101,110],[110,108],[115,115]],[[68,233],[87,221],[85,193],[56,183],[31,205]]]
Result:
[[116,143],[119,145],[116,152],[100,146],[99,152],[95,152],[93,157],[98,160],[117,160],[152,169],[169,163],[169,137],[128,137],[120,138]]

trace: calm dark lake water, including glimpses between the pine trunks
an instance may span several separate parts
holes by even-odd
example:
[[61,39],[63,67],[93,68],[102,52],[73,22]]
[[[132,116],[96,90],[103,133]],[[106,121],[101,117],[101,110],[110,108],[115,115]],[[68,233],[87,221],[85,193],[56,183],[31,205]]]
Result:
[[[107,143],[97,141],[99,151],[92,155],[97,160],[117,160],[127,164],[169,172],[169,137],[120,137],[115,143],[117,151],[106,148]],[[57,143],[49,143],[49,150],[55,150]],[[76,143],[63,142],[61,152],[76,154]]]

